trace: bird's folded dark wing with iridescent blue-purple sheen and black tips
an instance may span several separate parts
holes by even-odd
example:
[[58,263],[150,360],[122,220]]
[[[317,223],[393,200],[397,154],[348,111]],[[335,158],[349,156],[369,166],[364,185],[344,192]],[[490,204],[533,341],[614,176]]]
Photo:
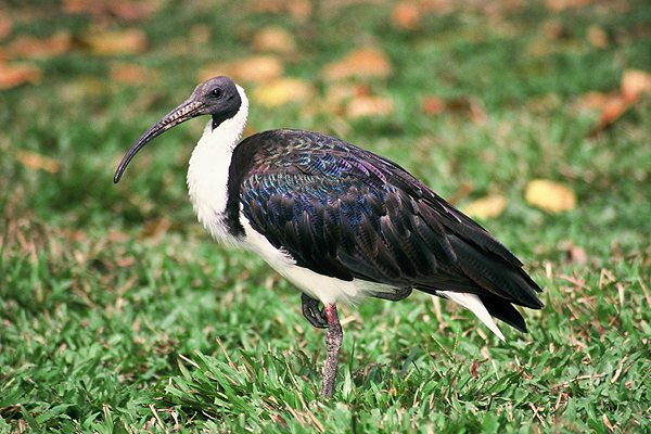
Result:
[[476,294],[519,329],[510,303],[542,307],[540,289],[507,247],[398,165],[316,132],[266,131],[239,146],[247,142],[257,151],[240,180],[242,212],[298,266]]

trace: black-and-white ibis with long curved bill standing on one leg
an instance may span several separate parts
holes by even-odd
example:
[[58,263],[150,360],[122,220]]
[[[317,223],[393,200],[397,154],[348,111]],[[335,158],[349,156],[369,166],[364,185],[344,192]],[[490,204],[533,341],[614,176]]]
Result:
[[334,394],[343,342],[339,303],[393,302],[412,290],[471,310],[501,341],[495,317],[527,331],[514,305],[540,309],[541,289],[511,251],[398,164],[319,132],[272,129],[240,140],[244,89],[218,76],[152,126],[152,139],[209,116],[189,162],[193,209],[209,234],[252,252],[301,292],[302,314],[326,333],[320,396]]

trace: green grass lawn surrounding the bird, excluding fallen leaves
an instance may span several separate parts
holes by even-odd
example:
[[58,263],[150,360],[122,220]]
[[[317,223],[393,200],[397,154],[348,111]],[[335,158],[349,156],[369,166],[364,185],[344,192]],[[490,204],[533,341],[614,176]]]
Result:
[[[625,69],[651,72],[651,8],[459,5],[407,31],[391,24],[391,4],[323,2],[304,22],[246,4],[164,3],[137,22],[50,2],[7,7],[3,47],[65,29],[84,40],[105,25],[144,29],[149,49],[102,56],[81,44],[23,60],[41,82],[0,92],[0,431],[651,432],[651,99],[597,135],[575,105],[617,90]],[[546,308],[525,312],[529,333],[502,327],[501,343],[422,294],[343,306],[336,392],[323,401],[324,333],[303,319],[298,293],[258,258],[215,245],[192,214],[184,173],[203,123],[167,132],[113,184],[128,146],[199,72],[251,55],[267,24],[296,37],[288,74],[322,92],[323,65],[355,47],[382,49],[394,73],[365,85],[395,113],[345,119],[252,100],[252,130],[334,133],[443,196],[464,186],[465,201],[507,196],[506,212],[482,222],[544,288]],[[189,36],[197,25],[206,41]],[[593,26],[608,47],[589,43]],[[120,62],[157,79],[116,82]],[[487,118],[426,115],[427,94],[475,99]],[[31,168],[27,151],[60,168]],[[578,206],[532,207],[524,190],[536,178],[566,183]]]

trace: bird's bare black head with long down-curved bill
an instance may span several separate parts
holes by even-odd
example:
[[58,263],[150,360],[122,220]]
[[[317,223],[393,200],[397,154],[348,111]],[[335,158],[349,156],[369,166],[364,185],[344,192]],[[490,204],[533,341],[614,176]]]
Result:
[[212,115],[213,127],[217,127],[226,119],[233,117],[241,105],[242,99],[240,98],[240,92],[230,78],[220,76],[202,82],[194,89],[192,95],[186,102],[169,112],[167,116],[158,120],[156,125],[151,127],[149,131],[133,143],[117,167],[113,181],[115,183],[119,181],[133,155],[154,137],[186,120],[202,115]]

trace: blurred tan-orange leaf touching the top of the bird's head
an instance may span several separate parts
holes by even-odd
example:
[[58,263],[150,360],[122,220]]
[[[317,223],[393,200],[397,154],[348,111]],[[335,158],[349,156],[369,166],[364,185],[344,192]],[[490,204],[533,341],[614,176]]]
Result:
[[200,81],[217,75],[227,75],[237,82],[266,82],[282,76],[283,63],[270,54],[254,55],[232,62],[208,65],[200,73]]

